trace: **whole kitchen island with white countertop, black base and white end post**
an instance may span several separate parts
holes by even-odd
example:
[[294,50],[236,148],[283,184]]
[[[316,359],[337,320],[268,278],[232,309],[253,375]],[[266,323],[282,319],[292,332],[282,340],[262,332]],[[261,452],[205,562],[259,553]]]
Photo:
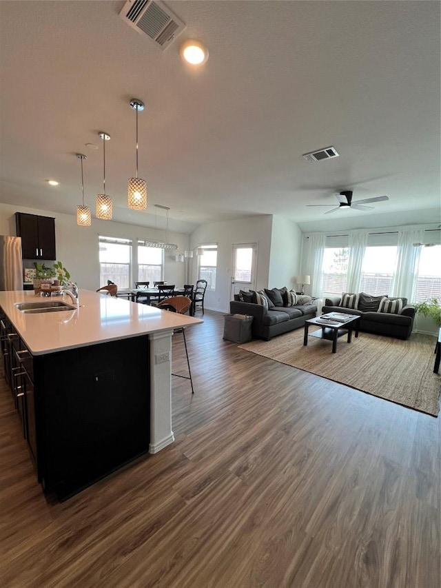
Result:
[[[62,301],[68,310],[23,312]],[[39,482],[67,498],[174,441],[172,334],[201,319],[79,291],[0,292],[4,375]]]

